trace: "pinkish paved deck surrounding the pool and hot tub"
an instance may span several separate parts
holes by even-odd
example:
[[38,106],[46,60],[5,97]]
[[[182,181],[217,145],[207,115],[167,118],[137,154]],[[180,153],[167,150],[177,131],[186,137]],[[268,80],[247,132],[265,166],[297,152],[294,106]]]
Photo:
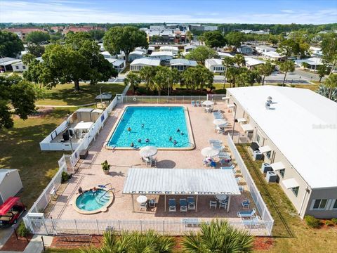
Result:
[[[141,105],[141,104],[138,104]],[[164,212],[164,196],[148,196],[155,198],[159,203],[157,208],[152,211],[140,211],[138,203],[136,202],[135,195],[135,212],[133,212],[131,196],[122,195],[121,191],[124,187],[124,181],[131,167],[146,167],[140,159],[138,150],[108,150],[102,147],[102,144],[110,138],[113,126],[117,123],[118,117],[124,111],[127,104],[118,105],[105,123],[104,129],[100,132],[96,141],[91,144],[89,155],[86,160],[80,160],[77,166],[78,171],[65,190],[59,193],[58,201],[47,214],[47,217],[53,219],[120,219],[120,220],[170,220],[180,221],[185,217],[198,217],[199,219],[209,220],[215,217],[223,217],[233,221],[239,221],[237,212],[242,210],[241,202],[249,198],[249,192],[246,191],[245,183],[244,193],[239,196],[233,196],[230,203],[230,212],[226,213],[224,209],[210,209],[209,200],[214,200],[213,196],[199,197],[197,212],[180,213],[177,207],[176,213]],[[145,105],[146,106],[146,105]],[[153,106],[153,104],[152,104]],[[203,156],[201,149],[209,146],[209,139],[219,139],[227,146],[227,136],[217,134],[214,131],[213,115],[204,112],[203,108],[192,107],[191,105],[184,104],[189,110],[190,122],[194,137],[195,148],[194,150],[159,150],[157,153],[157,167],[158,168],[179,168],[179,169],[207,169],[203,165]],[[229,125],[227,126],[227,133],[232,132],[233,115],[228,112],[227,106],[224,103],[219,103],[214,106],[215,110],[222,110],[225,114]],[[242,128],[239,124],[235,124],[235,133],[242,134]],[[103,174],[101,163],[107,160],[112,167],[110,174]],[[151,169],[148,167],[148,169]],[[93,188],[93,186],[104,185],[112,183],[116,190],[115,200],[108,208],[107,212],[98,214],[79,214],[72,207],[72,201],[77,197],[77,190],[79,186],[84,190]],[[179,202],[180,196],[174,196]],[[169,197],[167,197],[168,201]]]

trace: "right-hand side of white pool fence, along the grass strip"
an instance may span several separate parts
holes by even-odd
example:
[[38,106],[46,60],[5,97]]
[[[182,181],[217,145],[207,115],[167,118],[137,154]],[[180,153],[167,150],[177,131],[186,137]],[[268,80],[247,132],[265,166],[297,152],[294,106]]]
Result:
[[239,167],[242,176],[244,177],[244,181],[246,181],[246,185],[249,188],[249,192],[251,193],[251,197],[255,202],[258,212],[260,213],[261,219],[263,219],[263,221],[268,221],[271,223],[271,226],[268,227],[269,235],[271,235],[274,219],[272,219],[272,215],[267,209],[267,205],[265,205],[265,202],[263,201],[263,198],[260,195],[260,192],[258,191],[258,188],[256,187],[256,184],[254,183],[253,178],[251,177],[251,174],[249,173],[249,170],[246,167],[246,164],[244,164],[244,160],[242,160],[242,157],[239,154],[239,151],[237,150],[237,147],[232,141],[232,138],[230,138],[230,134],[227,135],[227,143],[230,150],[232,151],[232,154],[234,155],[235,161],[237,162],[237,166]]

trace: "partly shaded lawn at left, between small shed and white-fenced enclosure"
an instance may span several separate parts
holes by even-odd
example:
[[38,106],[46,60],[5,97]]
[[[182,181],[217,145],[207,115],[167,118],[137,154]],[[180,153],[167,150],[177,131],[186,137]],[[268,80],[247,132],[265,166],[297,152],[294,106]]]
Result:
[[[72,108],[76,110],[77,108]],[[0,130],[0,168],[18,169],[23,184],[22,201],[30,207],[58,171],[64,152],[41,151],[39,142],[58,126],[68,108],[58,108],[45,117],[14,119],[12,129]]]

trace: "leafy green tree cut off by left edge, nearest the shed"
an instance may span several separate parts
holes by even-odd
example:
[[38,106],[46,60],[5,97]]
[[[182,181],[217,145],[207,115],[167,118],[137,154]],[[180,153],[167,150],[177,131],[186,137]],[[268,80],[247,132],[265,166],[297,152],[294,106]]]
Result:
[[[18,74],[0,76],[0,129],[13,126],[12,114],[27,119],[35,111],[37,89]],[[11,111],[11,108],[14,111]]]

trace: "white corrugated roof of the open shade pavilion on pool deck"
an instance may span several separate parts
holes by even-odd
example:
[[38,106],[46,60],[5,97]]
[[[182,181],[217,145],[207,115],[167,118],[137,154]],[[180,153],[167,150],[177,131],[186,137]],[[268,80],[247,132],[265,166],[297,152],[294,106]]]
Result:
[[128,169],[123,194],[240,195],[227,169]]

